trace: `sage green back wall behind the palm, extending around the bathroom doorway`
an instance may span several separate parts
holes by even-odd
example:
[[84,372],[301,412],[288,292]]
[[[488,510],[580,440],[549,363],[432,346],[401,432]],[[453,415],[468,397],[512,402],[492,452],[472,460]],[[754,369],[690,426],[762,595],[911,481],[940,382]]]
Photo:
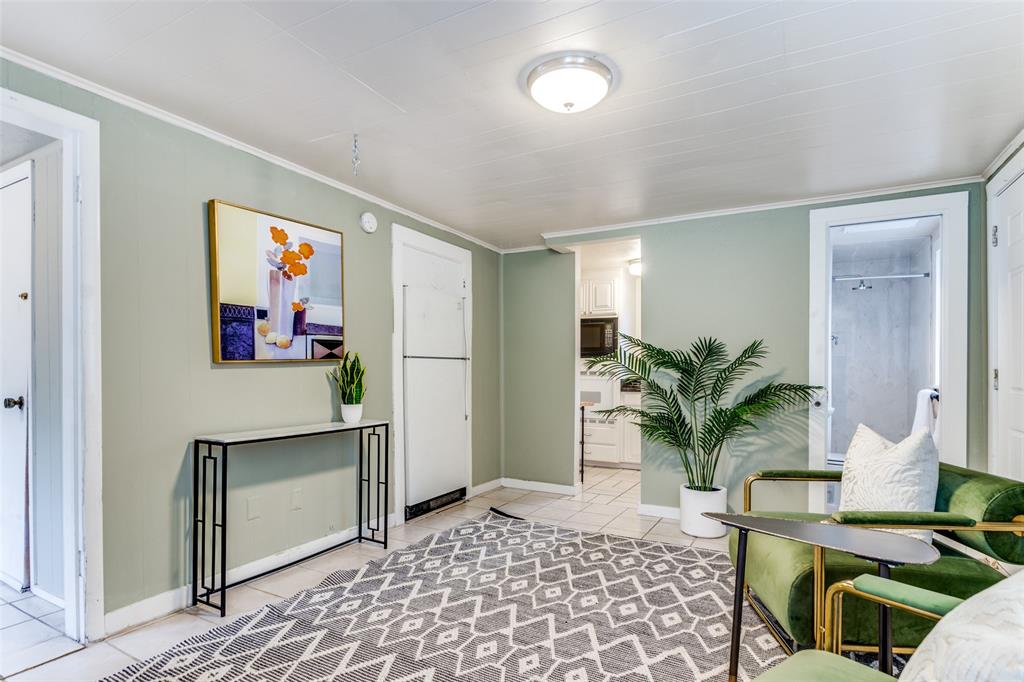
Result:
[[[781,208],[755,213],[670,222],[583,237],[550,240],[550,246],[583,241],[639,237],[644,261],[643,337],[658,345],[680,347],[697,336],[717,336],[732,351],[764,338],[771,354],[766,377],[806,381],[808,366],[809,212],[812,209],[870,201],[968,191],[969,340],[968,464],[984,470],[987,463],[987,370],[985,334],[985,193],[980,182],[936,189],[892,194],[855,201]],[[513,298],[506,292],[508,304]],[[538,341],[543,343],[543,340]],[[509,364],[507,364],[509,365]],[[510,366],[507,372],[514,372]],[[554,374],[571,374],[563,361]],[[551,416],[549,419],[556,419]],[[568,457],[568,455],[562,455]],[[677,507],[682,469],[671,452],[643,444],[641,501]],[[807,466],[807,425],[791,415],[732,449],[719,470],[738,509],[742,480],[762,467]],[[767,508],[806,508],[799,484],[762,483],[757,504]]]

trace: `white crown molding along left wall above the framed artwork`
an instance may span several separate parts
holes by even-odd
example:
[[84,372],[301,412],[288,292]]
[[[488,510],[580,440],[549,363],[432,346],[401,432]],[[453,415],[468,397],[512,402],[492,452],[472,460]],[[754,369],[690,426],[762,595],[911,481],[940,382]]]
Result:
[[462,238],[467,242],[471,242],[477,246],[489,249],[490,251],[494,251],[496,253],[499,254],[503,253],[503,250],[495,246],[494,244],[489,244],[481,239],[478,239],[471,235],[467,235],[466,232],[458,230],[455,227],[445,225],[444,223],[438,222],[432,218],[428,218],[425,215],[421,215],[416,211],[411,211],[407,208],[402,208],[397,204],[393,204],[387,201],[386,199],[382,199],[380,197],[377,197],[376,195],[372,195],[369,191],[364,191],[362,189],[359,189],[357,187],[345,184],[344,182],[341,182],[332,177],[324,175],[323,173],[318,173],[314,170],[306,168],[305,166],[301,166],[297,163],[279,157],[275,154],[271,154],[265,150],[261,150],[258,146],[253,146],[248,142],[243,142],[242,140],[236,139],[230,135],[225,135],[224,133],[217,132],[212,128],[207,128],[206,126],[200,123],[196,123],[195,121],[178,116],[177,114],[172,114],[166,110],[160,109],[159,106],[148,104],[140,99],[132,97],[131,95],[127,95],[123,92],[118,92],[117,90],[113,90],[104,85],[94,83],[93,81],[90,81],[86,78],[82,78],[81,76],[76,76],[75,74],[72,74],[62,69],[54,67],[53,65],[47,63],[45,61],[40,61],[35,57],[29,56],[28,54],[23,54],[22,52],[12,50],[9,47],[4,47],[3,45],[0,45],[0,58],[7,59],[8,61],[20,65],[27,69],[31,69],[32,71],[38,72],[44,76],[49,76],[50,78],[67,83],[68,85],[73,85],[77,88],[82,88],[83,90],[87,90],[95,95],[99,95],[100,97],[104,97],[106,99],[110,99],[111,101],[115,101],[119,104],[123,104],[124,106],[128,106],[129,109],[133,109],[136,112],[140,112],[142,114],[145,114],[146,116],[151,116],[155,119],[163,121],[164,123],[169,123],[172,126],[176,126],[178,128],[184,128],[185,130],[191,131],[199,135],[203,135],[204,137],[212,139],[215,142],[220,142],[221,144],[226,144],[227,146],[239,150],[241,152],[245,152],[246,154],[251,154],[252,156],[262,159],[263,161],[274,164],[275,166],[281,166],[282,168],[290,170],[294,173],[298,173],[299,175],[304,175],[308,178],[316,180],[317,182],[334,187],[335,189],[341,189],[342,191],[346,191],[352,195],[353,197],[357,197],[365,201],[371,202],[373,204],[376,204],[377,206],[380,206],[381,208],[394,211],[395,213],[400,213],[403,216],[413,218],[414,220],[418,220],[426,225],[430,225],[431,227],[436,227],[437,229],[449,232],[450,235],[455,235],[456,237]]

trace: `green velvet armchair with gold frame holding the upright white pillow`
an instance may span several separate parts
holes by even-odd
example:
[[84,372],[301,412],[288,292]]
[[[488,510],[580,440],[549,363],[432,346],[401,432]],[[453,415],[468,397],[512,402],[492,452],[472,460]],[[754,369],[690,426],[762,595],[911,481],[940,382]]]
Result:
[[[941,556],[927,566],[896,566],[893,581],[966,599],[1006,576],[998,561],[1024,563],[1024,482],[942,464],[933,512],[753,512],[752,488],[762,480],[840,481],[842,471],[773,470],[751,475],[743,485],[743,512],[763,516],[819,520],[872,528],[922,528],[948,536],[977,550],[980,561],[935,542]],[[735,562],[736,534],[729,542]],[[825,590],[873,571],[867,561],[842,552],[768,536],[752,535],[746,550],[744,592],[755,612],[788,653],[825,648]],[[841,651],[878,651],[878,606],[854,600],[844,609],[839,630]],[[934,622],[910,612],[893,613],[894,651],[910,653]]]

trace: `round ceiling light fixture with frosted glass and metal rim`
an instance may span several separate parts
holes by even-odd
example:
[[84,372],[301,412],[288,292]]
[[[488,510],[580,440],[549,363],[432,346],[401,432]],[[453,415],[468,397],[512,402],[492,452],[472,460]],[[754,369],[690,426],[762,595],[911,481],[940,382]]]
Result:
[[526,77],[529,96],[558,114],[586,112],[608,94],[611,70],[586,54],[562,54],[535,67]]

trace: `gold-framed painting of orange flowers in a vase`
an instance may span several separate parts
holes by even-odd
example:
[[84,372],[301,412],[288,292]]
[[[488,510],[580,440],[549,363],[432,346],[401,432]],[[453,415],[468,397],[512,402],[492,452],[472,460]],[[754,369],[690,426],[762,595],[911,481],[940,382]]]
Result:
[[214,363],[310,363],[345,354],[342,233],[213,199]]

